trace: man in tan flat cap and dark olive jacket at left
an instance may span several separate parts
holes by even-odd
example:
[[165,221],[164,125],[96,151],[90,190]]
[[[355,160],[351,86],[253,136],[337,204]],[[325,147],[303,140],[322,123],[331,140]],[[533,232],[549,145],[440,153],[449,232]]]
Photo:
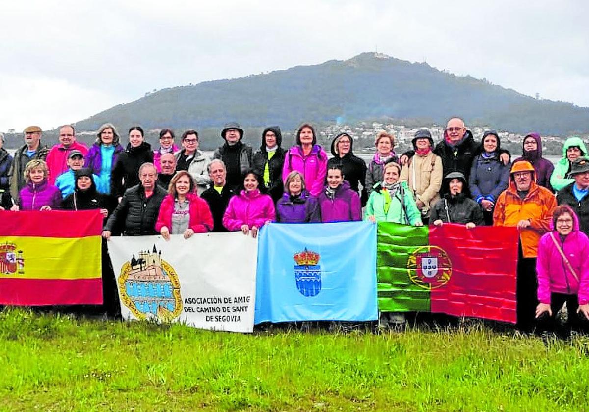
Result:
[[8,172],[10,182],[10,194],[15,202],[18,203],[18,192],[21,191],[27,181],[25,181],[24,172],[27,163],[31,160],[45,160],[49,153],[47,146],[41,146],[42,130],[38,126],[29,126],[24,132],[25,144],[21,146],[14,154],[14,160]]

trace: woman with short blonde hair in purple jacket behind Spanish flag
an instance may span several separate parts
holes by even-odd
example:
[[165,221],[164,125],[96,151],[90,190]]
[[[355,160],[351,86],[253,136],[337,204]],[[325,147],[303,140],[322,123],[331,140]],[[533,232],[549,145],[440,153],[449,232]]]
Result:
[[45,161],[29,161],[24,172],[27,184],[19,192],[19,206],[14,206],[12,210],[61,209],[61,191],[49,184],[48,174]]

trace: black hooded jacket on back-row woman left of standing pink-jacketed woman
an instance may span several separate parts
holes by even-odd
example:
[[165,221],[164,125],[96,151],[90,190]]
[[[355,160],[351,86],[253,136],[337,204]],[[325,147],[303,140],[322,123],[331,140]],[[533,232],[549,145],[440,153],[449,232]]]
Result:
[[[276,152],[272,156],[272,159],[268,160],[268,152],[266,151],[266,132],[272,131],[276,135]],[[265,187],[267,194],[269,194],[274,202],[278,201],[282,197],[284,186],[282,182],[282,168],[284,167],[284,154],[286,151],[281,147],[282,145],[282,132],[278,126],[267,127],[262,132],[262,144],[260,145],[260,151],[257,151],[253,157],[253,169],[260,175],[264,176],[266,170],[266,164],[268,165],[268,171],[270,174],[270,184]]]

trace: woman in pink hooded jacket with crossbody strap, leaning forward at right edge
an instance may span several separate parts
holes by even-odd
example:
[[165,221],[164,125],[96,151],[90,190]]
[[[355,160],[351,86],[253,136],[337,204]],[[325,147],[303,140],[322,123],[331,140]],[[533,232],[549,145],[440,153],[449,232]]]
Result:
[[567,205],[555,208],[551,227],[538,244],[538,330],[554,330],[556,314],[565,302],[570,325],[587,328],[589,238],[579,230],[577,215]]

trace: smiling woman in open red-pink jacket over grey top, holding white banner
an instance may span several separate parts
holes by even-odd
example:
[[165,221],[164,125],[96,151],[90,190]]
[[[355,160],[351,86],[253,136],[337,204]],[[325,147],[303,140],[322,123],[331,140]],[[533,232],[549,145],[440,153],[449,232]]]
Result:
[[213,216],[209,204],[194,193],[194,180],[190,173],[181,170],[170,181],[168,195],[161,202],[155,222],[155,231],[166,240],[172,235],[188,239],[195,233],[213,230]]

